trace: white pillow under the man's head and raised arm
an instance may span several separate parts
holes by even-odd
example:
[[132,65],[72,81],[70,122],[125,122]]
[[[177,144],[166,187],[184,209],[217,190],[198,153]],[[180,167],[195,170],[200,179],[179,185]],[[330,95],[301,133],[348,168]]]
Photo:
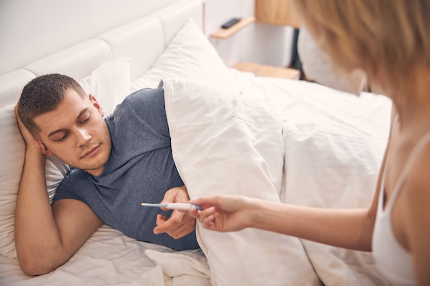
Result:
[[[106,62],[80,83],[87,93],[98,99],[108,115],[130,91],[130,60]],[[0,254],[16,258],[14,213],[25,144],[16,126],[14,105],[0,109],[0,146]],[[69,167],[58,158],[47,157],[46,182],[51,202],[58,184],[68,171]]]

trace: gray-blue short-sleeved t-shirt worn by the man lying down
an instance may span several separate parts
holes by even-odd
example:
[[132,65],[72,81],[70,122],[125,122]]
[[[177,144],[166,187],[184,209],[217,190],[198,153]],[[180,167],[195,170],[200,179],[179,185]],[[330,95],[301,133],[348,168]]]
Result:
[[140,241],[175,250],[199,248],[195,232],[181,239],[154,235],[157,213],[171,211],[143,207],[161,202],[164,193],[183,182],[172,158],[170,134],[161,88],[128,95],[105,119],[112,151],[100,176],[72,169],[56,191],[54,202],[75,199],[87,203],[105,224]]

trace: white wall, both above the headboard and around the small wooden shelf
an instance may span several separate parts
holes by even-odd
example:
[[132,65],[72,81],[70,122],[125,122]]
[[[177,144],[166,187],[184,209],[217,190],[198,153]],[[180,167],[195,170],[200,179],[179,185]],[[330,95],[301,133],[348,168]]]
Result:
[[[172,1],[177,0],[0,0],[0,75]],[[254,0],[207,0],[205,34],[233,17],[253,15]],[[238,61],[286,66],[291,35],[290,27],[254,23],[226,40],[210,40],[229,66]],[[25,38],[27,45],[16,38]]]

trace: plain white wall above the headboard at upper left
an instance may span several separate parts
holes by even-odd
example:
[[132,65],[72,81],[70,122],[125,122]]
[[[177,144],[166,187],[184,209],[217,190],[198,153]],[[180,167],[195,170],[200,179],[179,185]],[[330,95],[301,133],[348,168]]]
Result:
[[174,1],[0,0],[0,75]]

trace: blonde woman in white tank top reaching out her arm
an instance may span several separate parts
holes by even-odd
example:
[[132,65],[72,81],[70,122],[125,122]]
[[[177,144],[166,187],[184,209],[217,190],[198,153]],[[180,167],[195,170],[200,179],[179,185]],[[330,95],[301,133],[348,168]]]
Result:
[[[294,0],[342,71],[361,69],[392,99],[392,130],[368,209],[321,209],[242,196],[192,200],[221,232],[261,228],[374,253],[394,285],[430,285],[430,0]],[[329,187],[329,186],[328,186]]]

